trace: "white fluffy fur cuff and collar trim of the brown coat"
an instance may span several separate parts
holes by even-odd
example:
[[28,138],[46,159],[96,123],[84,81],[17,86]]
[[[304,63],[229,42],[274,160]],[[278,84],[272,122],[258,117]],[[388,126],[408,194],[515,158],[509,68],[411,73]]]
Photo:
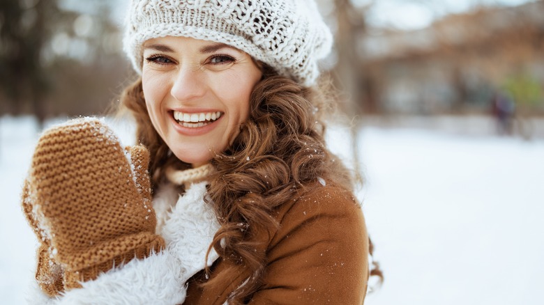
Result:
[[[204,261],[218,224],[202,200],[206,182],[192,185],[169,212],[161,235],[167,247],[143,259],[130,260],[104,272],[81,288],[49,298],[35,285],[30,304],[182,304],[186,281],[218,257],[211,251]],[[186,233],[186,234],[183,234]]]

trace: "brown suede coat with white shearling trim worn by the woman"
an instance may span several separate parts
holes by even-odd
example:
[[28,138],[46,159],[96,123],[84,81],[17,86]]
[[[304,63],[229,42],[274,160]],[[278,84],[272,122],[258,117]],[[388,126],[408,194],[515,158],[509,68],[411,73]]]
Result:
[[[368,281],[368,235],[360,206],[345,189],[322,181],[311,191],[280,206],[274,232],[266,240],[264,285],[250,304],[363,304]],[[144,260],[83,283],[82,288],[49,299],[36,286],[32,304],[228,304],[229,295],[251,276],[232,274],[229,281],[202,288],[202,269],[211,277],[229,267],[229,260],[206,251],[219,228],[204,203],[206,182],[188,187],[180,196],[173,186],[160,188],[153,206],[157,233],[167,247]]]

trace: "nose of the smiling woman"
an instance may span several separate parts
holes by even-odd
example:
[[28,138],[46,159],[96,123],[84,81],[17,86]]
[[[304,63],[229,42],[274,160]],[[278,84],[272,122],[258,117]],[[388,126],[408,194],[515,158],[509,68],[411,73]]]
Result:
[[198,67],[187,65],[179,69],[170,94],[180,102],[190,102],[206,93],[206,84]]

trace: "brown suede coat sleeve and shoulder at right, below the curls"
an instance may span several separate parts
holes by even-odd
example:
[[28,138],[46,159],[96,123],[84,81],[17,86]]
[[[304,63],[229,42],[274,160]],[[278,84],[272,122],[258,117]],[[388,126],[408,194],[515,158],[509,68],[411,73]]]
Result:
[[319,187],[296,201],[280,225],[264,286],[250,304],[363,304],[368,235],[349,192]]

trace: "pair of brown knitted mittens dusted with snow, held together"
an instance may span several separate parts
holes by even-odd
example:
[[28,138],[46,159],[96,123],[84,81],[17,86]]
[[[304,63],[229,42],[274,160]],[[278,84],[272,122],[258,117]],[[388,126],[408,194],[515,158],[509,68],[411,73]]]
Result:
[[164,247],[155,234],[148,164],[145,148],[123,150],[97,119],[72,120],[43,133],[22,204],[42,242],[36,278],[48,295],[62,288],[59,274],[63,288],[77,288]]

